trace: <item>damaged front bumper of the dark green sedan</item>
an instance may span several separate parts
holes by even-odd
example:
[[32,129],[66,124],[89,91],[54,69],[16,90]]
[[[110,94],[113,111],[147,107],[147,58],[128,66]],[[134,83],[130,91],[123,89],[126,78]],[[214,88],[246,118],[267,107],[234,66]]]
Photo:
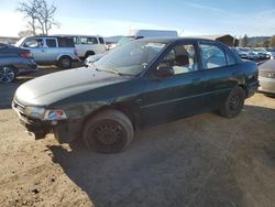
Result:
[[34,134],[35,139],[42,139],[48,133],[54,133],[55,138],[61,143],[69,143],[78,138],[81,131],[81,120],[61,120],[61,121],[44,121],[34,119],[24,115],[24,106],[18,101],[12,101],[12,108],[16,112],[20,123],[26,129],[26,132]]

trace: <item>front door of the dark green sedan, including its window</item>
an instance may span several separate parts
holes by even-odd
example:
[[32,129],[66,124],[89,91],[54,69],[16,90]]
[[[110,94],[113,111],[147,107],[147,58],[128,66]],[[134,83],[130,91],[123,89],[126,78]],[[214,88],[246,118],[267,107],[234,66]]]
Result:
[[147,79],[141,107],[143,124],[178,119],[204,110],[206,83],[196,43],[175,45],[158,66],[162,64],[172,66],[174,75]]

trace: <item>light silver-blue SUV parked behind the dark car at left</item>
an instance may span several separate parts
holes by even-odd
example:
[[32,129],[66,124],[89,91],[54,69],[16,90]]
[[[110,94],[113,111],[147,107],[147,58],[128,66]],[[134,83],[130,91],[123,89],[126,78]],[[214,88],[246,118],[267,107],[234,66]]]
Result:
[[56,64],[70,68],[78,61],[74,40],[63,36],[29,36],[21,39],[16,46],[31,51],[37,64]]

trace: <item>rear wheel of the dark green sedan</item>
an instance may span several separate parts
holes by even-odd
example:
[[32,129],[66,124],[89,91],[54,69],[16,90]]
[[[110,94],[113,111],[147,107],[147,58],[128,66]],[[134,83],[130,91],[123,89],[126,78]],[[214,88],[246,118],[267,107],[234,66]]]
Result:
[[241,87],[234,87],[229,96],[227,101],[223,103],[220,113],[227,118],[237,117],[244,105],[245,91]]

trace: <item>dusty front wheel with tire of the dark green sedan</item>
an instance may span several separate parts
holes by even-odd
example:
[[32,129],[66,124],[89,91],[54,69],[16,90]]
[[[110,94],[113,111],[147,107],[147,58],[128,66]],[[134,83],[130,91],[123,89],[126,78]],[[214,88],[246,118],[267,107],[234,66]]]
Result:
[[133,140],[133,126],[124,113],[105,110],[86,122],[82,140],[89,150],[99,153],[122,152]]

